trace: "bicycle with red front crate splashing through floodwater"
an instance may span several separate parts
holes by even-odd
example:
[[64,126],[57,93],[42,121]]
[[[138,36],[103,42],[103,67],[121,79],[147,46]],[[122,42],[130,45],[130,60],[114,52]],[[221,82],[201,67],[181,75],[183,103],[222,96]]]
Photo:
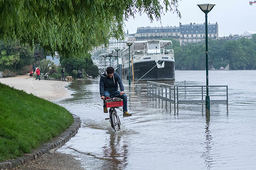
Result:
[[110,107],[109,118],[107,118],[107,119],[109,119],[113,130],[115,132],[119,131],[121,122],[120,122],[120,119],[117,115],[117,111],[115,110],[115,108],[123,106],[123,101],[122,101],[122,99],[117,98],[117,97],[106,97],[105,103],[106,103],[106,107]]

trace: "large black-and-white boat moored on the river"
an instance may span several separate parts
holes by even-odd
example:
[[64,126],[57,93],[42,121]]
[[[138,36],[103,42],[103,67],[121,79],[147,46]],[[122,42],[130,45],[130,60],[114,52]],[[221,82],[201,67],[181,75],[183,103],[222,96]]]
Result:
[[[129,47],[122,51],[123,78],[129,77]],[[136,41],[130,46],[131,80],[174,80],[172,41]]]

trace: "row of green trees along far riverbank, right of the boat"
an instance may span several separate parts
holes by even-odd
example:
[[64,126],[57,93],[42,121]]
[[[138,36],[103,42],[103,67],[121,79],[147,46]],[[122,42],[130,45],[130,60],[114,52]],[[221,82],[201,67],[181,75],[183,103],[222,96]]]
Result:
[[[254,39],[253,39],[254,38]],[[238,40],[209,39],[208,62],[215,69],[226,67],[232,70],[256,69],[256,36],[252,39]],[[179,70],[205,69],[205,44],[187,44],[184,47],[174,47],[175,67]]]

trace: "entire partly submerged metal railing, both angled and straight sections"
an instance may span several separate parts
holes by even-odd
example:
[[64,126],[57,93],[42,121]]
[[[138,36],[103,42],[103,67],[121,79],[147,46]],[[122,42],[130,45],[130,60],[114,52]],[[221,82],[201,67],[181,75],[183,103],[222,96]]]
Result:
[[[228,86],[209,86],[211,103],[228,104]],[[205,103],[206,86],[173,86],[147,81],[147,94],[174,104]]]

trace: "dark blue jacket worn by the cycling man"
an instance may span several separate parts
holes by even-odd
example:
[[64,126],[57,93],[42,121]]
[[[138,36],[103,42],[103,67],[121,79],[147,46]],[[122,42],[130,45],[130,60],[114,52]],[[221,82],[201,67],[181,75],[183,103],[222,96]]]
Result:
[[120,91],[123,92],[124,86],[120,76],[117,73],[114,73],[113,77],[109,78],[109,76],[107,76],[107,71],[105,71],[105,73],[101,75],[101,78],[99,81],[99,92],[101,96],[104,96],[104,91],[108,91],[108,92],[117,91],[118,90],[117,83],[120,86]]

